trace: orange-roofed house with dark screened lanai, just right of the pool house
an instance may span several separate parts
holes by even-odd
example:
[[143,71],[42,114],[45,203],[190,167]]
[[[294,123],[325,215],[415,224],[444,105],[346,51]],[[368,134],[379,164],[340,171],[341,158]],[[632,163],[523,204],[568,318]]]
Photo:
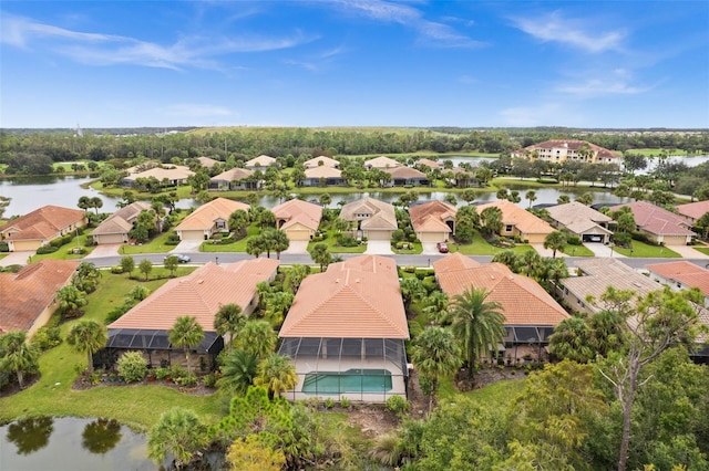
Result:
[[526,354],[541,357],[554,327],[569,317],[536,281],[513,273],[502,263],[480,264],[452,253],[433,262],[433,270],[449,299],[475,287],[490,293],[486,301],[500,303],[505,316],[505,339],[493,354],[504,354],[515,363]]

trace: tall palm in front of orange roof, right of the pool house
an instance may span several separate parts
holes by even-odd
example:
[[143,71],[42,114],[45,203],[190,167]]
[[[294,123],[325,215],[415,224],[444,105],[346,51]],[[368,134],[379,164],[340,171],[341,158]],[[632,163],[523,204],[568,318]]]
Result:
[[490,348],[496,348],[505,337],[502,305],[496,301],[485,301],[489,294],[471,286],[453,296],[449,306],[451,328],[462,347],[470,378],[477,357]]

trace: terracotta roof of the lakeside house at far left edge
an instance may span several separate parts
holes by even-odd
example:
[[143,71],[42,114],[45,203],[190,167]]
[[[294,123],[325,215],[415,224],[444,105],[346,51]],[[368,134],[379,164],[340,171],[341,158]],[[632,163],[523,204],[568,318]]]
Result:
[[0,233],[12,232],[8,240],[45,240],[59,237],[59,232],[86,217],[81,209],[43,206],[34,211],[12,219],[0,227]]

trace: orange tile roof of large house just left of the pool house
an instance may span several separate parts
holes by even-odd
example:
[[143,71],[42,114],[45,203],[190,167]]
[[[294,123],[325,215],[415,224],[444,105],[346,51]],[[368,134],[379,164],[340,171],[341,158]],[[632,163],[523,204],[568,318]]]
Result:
[[256,284],[273,276],[278,263],[265,258],[229,265],[209,262],[187,276],[168,281],[109,328],[167,331],[177,317],[192,315],[202,328],[214,332],[214,315],[219,307],[235,303],[246,310],[256,295]]

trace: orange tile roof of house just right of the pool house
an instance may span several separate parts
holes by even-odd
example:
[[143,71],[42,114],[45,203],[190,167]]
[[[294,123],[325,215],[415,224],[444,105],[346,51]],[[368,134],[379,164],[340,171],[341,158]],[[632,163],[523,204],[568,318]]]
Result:
[[496,301],[502,305],[505,325],[556,325],[568,317],[566,311],[537,282],[512,273],[502,263],[456,270],[454,264],[467,262],[462,259],[451,263],[440,262],[433,265],[435,278],[449,297],[463,293],[470,286],[484,289],[490,292],[487,301]]

